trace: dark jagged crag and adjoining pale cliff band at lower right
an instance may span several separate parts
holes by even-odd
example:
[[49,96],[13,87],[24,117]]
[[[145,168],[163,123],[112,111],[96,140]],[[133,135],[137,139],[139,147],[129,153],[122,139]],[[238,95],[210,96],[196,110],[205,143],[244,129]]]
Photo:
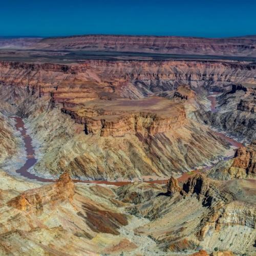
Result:
[[201,174],[188,179],[183,189],[186,193],[196,194],[209,214],[201,220],[197,237],[203,241],[210,229],[218,231],[224,225],[244,225],[255,227],[256,207],[245,202],[237,202],[236,196]]

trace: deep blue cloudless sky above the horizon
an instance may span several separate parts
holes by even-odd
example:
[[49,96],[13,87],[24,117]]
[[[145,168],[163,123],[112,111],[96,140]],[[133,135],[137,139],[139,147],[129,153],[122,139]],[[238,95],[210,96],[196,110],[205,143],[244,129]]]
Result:
[[12,0],[0,9],[0,36],[256,34],[256,0]]

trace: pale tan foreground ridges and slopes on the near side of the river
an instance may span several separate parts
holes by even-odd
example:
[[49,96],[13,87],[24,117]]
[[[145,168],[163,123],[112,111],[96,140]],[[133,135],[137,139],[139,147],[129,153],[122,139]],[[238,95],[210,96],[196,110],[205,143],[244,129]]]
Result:
[[[74,185],[63,174],[54,184],[34,184],[21,193],[15,187],[26,181],[13,181],[13,189],[1,190],[1,254],[59,254],[65,249],[78,255],[251,255],[254,250],[251,181],[222,184],[199,174],[184,183],[183,196],[174,178],[167,189],[141,182],[111,189]],[[179,187],[172,197],[164,193],[170,187]]]

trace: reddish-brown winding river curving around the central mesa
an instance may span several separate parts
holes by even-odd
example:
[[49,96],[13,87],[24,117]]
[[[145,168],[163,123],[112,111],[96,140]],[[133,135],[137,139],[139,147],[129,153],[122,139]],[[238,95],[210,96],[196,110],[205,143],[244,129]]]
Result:
[[[210,100],[210,102],[211,102],[210,109],[211,109],[212,112],[217,112],[217,109],[216,109],[216,104],[217,104],[216,96],[217,95],[218,95],[218,93],[212,93],[212,94],[210,94],[207,97],[208,100]],[[23,137],[23,140],[24,140],[24,143],[25,143],[25,148],[26,148],[26,153],[27,153],[27,160],[26,160],[25,164],[22,167],[20,167],[19,169],[17,169],[16,173],[20,174],[21,176],[23,176],[25,178],[32,179],[32,180],[37,180],[37,181],[40,181],[40,182],[56,182],[56,180],[54,180],[54,179],[41,178],[39,176],[31,174],[28,171],[29,168],[32,167],[37,162],[37,159],[35,158],[35,150],[34,150],[34,147],[32,145],[32,139],[27,134],[27,130],[25,128],[23,119],[20,118],[20,117],[16,117],[16,116],[12,117],[12,118],[16,121],[16,124],[15,124],[16,130],[19,131],[20,134]],[[234,139],[231,139],[231,138],[227,137],[223,133],[216,133],[216,134],[218,134],[223,140],[226,140],[228,143],[230,143],[234,147],[238,148],[238,147],[243,146],[241,143],[237,142]],[[227,156],[225,159],[228,159],[228,158],[230,158],[230,156],[229,157]],[[212,165],[212,166],[214,166],[214,165]],[[207,167],[204,167],[202,169],[194,170],[193,174],[204,172],[205,170],[211,168],[212,166],[207,166]],[[189,177],[191,177],[191,172],[183,173],[178,178],[178,180],[182,182],[182,181],[187,180]],[[95,183],[95,184],[116,185],[116,186],[122,186],[122,185],[126,185],[126,184],[132,183],[131,181],[116,181],[116,182],[112,182],[112,181],[104,181],[104,180],[90,181],[90,180],[76,180],[76,179],[74,179],[73,181],[74,182],[82,182],[82,183]],[[166,181],[167,180],[153,180],[153,181],[145,181],[145,182],[147,182],[147,183],[159,183],[159,184],[162,184],[162,183],[166,183]]]

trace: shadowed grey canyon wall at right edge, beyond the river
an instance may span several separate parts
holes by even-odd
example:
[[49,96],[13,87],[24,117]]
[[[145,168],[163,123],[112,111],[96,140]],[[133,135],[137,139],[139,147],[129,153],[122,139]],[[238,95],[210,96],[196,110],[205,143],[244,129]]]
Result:
[[223,92],[216,97],[217,111],[212,113],[198,110],[197,120],[210,124],[219,131],[226,131],[240,141],[250,143],[256,139],[256,115],[254,83],[230,84],[230,87],[219,88]]

